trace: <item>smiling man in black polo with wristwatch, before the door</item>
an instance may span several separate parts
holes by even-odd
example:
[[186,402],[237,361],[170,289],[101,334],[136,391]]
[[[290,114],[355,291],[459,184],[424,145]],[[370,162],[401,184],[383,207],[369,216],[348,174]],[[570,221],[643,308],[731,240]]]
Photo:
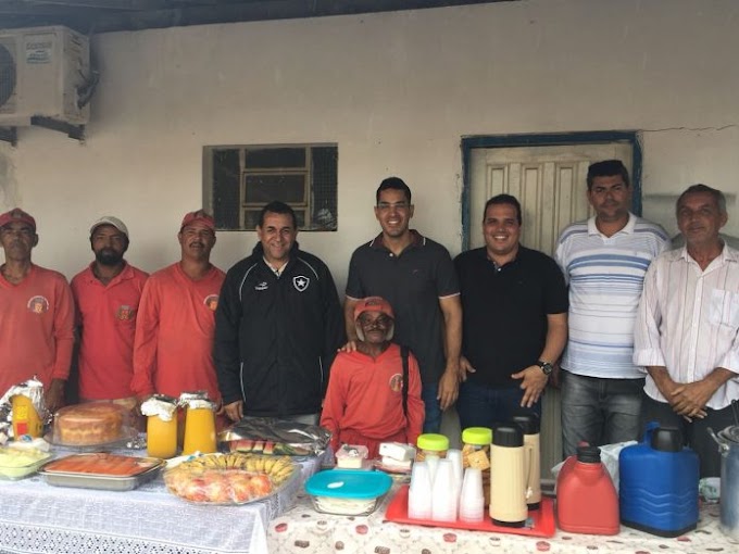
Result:
[[541,415],[539,399],[567,341],[564,277],[554,260],[521,245],[521,224],[514,197],[491,198],[486,245],[454,260],[464,313],[456,403],[463,429],[508,421],[519,406]]

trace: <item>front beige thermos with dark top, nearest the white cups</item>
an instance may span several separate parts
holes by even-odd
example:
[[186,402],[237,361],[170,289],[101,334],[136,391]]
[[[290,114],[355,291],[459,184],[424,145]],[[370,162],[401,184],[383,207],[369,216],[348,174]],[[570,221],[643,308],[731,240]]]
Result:
[[515,424],[499,425],[490,448],[490,517],[504,527],[524,527],[526,506],[526,456],[524,432]]

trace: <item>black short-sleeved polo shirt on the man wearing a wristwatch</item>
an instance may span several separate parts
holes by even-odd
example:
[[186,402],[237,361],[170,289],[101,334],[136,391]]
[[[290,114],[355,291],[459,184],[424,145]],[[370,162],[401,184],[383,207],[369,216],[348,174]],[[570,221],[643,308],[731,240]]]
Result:
[[[497,266],[478,248],[454,260],[462,290],[462,354],[477,370],[467,379],[518,387],[515,374],[536,364],[547,339],[547,315],[567,312],[567,288],[556,262],[524,247]],[[549,362],[553,362],[550,360]]]

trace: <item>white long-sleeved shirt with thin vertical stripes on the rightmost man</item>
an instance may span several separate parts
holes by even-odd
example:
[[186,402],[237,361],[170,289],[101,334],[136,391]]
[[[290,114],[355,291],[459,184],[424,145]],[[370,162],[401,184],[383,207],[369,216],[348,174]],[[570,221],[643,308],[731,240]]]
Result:
[[[725,245],[705,270],[685,248],[654,261],[635,328],[636,364],[664,366],[676,382],[699,381],[716,367],[739,374],[737,331],[739,251]],[[666,402],[649,376],[644,392]],[[734,399],[739,399],[739,376],[722,386],[706,405],[721,410]]]

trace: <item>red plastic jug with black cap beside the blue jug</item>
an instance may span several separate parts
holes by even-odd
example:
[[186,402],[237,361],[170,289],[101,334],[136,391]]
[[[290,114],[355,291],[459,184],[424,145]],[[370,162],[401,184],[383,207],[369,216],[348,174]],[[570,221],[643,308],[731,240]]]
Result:
[[618,495],[598,446],[578,446],[556,479],[556,516],[563,531],[617,534]]

